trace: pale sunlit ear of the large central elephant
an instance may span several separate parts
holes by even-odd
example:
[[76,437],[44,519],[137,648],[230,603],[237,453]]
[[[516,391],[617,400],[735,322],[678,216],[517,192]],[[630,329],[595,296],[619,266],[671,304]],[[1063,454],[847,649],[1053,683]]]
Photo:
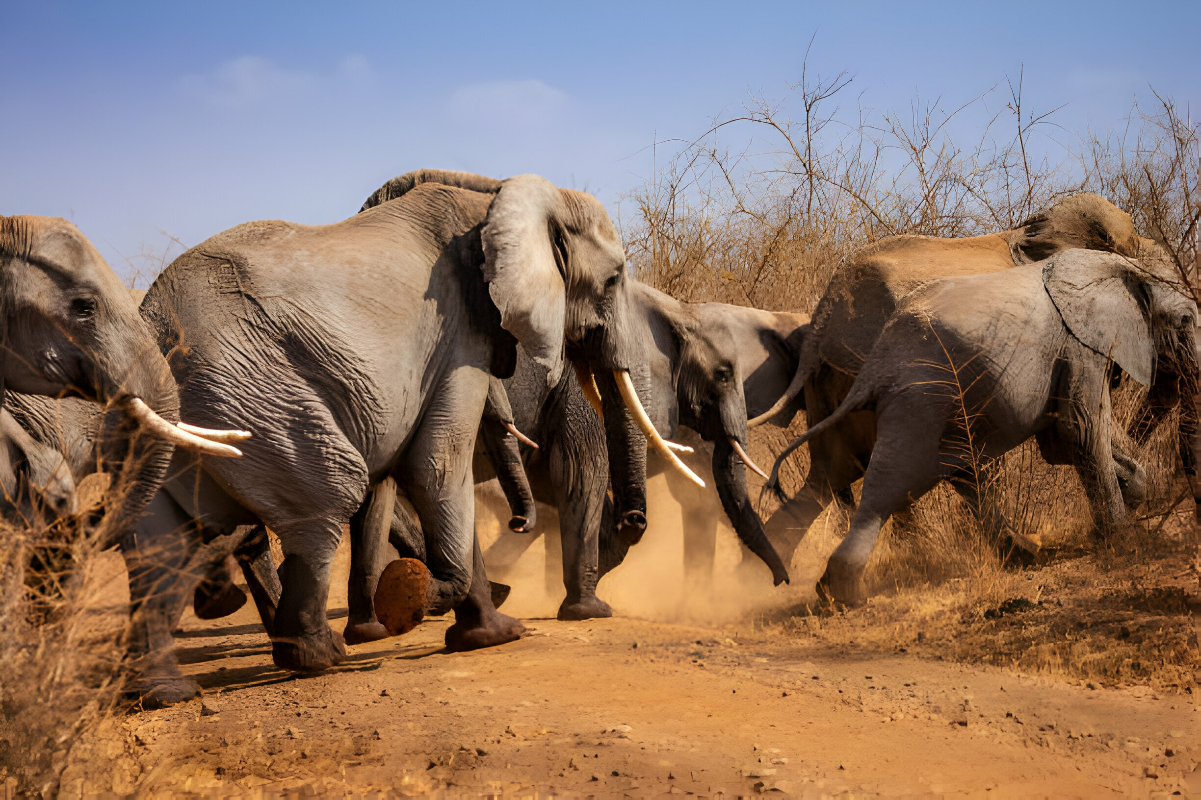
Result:
[[557,380],[563,361],[567,291],[555,258],[560,190],[538,175],[501,184],[482,240],[484,279],[501,312],[501,327]]

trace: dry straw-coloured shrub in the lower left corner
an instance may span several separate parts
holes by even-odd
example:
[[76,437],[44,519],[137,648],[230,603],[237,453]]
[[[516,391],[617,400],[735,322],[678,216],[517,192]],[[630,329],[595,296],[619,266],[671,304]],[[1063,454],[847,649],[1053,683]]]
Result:
[[[88,515],[0,521],[0,782],[54,796],[72,746],[120,703],[125,597]],[[118,593],[119,594],[119,593]],[[107,606],[104,604],[107,602]]]

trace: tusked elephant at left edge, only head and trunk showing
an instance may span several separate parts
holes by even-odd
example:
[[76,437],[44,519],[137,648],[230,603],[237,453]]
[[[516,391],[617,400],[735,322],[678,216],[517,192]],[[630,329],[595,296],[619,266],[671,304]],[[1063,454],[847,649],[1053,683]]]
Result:
[[[237,432],[179,423],[166,359],[129,290],[79,229],[56,217],[0,217],[0,380],[108,409],[104,457],[123,481],[96,536],[119,540],[166,475],[174,445],[237,456]],[[16,432],[12,432],[16,434]],[[145,434],[145,435],[139,435]]]

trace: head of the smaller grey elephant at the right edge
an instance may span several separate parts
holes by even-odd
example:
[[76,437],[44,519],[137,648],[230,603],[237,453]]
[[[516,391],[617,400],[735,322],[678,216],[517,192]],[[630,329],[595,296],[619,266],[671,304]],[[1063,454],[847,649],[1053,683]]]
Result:
[[1068,249],[1047,259],[1042,282],[1081,344],[1145,386],[1185,381],[1195,392],[1197,306],[1161,264]]

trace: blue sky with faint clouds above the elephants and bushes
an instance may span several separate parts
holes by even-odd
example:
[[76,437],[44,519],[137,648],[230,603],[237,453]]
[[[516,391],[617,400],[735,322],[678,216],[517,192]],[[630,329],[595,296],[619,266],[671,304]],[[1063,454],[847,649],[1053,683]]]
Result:
[[[1024,68],[1030,109],[1121,125],[1148,85],[1201,118],[1201,4],[310,4],[0,0],[0,213],[72,218],[118,271],[168,231],[334,222],[419,167],[539,173],[610,207],[808,68],[877,110]],[[961,122],[1004,106],[985,101]],[[749,136],[730,131],[730,142]],[[659,155],[675,145],[659,148]],[[135,258],[135,260],[137,260]]]

